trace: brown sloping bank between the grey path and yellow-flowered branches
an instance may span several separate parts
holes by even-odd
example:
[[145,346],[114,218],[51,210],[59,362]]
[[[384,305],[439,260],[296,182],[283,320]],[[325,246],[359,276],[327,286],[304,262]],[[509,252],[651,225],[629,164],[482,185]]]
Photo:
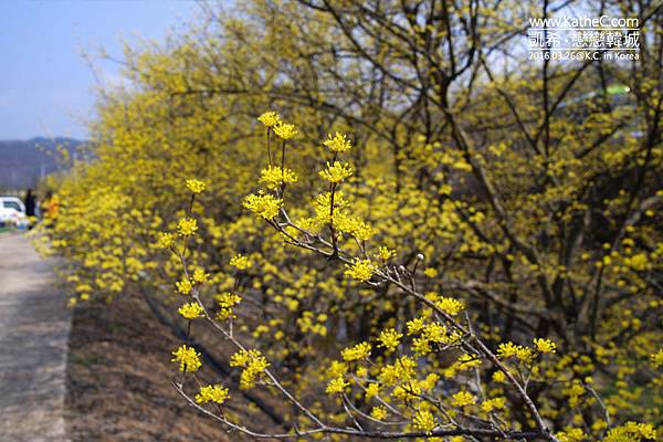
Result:
[[180,344],[139,297],[77,307],[67,365],[72,440],[236,440],[170,386],[170,351]]

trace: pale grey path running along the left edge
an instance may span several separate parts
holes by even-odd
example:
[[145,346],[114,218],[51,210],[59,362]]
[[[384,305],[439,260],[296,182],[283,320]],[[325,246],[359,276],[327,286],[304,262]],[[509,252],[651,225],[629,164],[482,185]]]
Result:
[[66,441],[65,364],[71,313],[52,261],[0,234],[0,441]]

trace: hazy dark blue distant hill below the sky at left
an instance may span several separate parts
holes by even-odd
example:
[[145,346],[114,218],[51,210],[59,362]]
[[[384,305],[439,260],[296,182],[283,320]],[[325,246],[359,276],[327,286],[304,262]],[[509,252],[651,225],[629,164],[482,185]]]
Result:
[[36,137],[29,140],[0,140],[0,189],[34,187],[50,173],[63,170],[56,147],[71,156],[85,141],[73,138]]

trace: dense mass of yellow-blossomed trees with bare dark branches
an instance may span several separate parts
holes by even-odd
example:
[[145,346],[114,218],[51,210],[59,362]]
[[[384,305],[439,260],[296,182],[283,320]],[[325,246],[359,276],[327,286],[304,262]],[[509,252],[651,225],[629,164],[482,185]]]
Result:
[[127,49],[42,230],[72,304],[140,292],[209,323],[238,385],[196,387],[187,341],[176,386],[254,436],[225,388],[266,386],[291,436],[655,440],[655,63],[498,75],[481,51],[520,3],[379,3],[208,6]]

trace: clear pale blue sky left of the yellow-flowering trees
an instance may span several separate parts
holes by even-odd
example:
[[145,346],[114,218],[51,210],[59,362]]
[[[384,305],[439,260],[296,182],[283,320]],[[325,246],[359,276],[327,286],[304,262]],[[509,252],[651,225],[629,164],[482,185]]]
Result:
[[[122,40],[162,40],[198,11],[193,0],[0,2],[0,139],[85,138],[95,78],[82,52],[122,56]],[[117,81],[118,66],[101,66]]]

